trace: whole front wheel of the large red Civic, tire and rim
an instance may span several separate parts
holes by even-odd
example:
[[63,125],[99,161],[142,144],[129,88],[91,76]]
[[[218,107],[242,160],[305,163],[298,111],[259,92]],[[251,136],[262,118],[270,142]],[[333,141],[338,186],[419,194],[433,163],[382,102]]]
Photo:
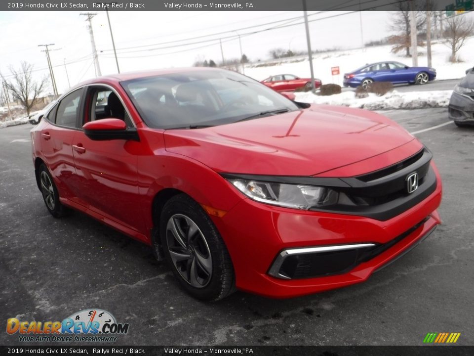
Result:
[[166,202],[160,216],[160,236],[174,276],[193,297],[217,301],[235,291],[234,267],[226,245],[191,197],[179,194]]

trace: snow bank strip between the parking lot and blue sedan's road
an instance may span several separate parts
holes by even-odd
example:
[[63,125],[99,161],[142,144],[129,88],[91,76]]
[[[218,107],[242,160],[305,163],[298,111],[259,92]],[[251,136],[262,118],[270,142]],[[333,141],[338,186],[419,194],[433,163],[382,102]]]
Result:
[[329,96],[316,95],[312,92],[295,92],[295,100],[312,104],[341,105],[368,110],[421,109],[447,107],[452,92],[452,90],[412,92],[393,90],[382,96],[369,93],[366,98],[356,98],[354,91],[344,91]]

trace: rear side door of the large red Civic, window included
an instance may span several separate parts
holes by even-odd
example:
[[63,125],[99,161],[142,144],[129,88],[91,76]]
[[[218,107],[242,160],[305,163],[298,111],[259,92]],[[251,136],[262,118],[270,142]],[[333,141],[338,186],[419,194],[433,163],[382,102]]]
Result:
[[79,114],[83,88],[66,95],[49,111],[43,120],[46,125],[40,131],[40,147],[43,158],[58,187],[61,199],[77,201],[74,189],[74,157],[72,142],[79,129]]

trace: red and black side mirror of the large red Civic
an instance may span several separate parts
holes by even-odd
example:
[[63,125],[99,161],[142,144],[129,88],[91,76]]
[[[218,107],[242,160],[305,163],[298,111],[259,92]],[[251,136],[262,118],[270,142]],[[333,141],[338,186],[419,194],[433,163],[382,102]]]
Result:
[[101,119],[85,123],[84,134],[94,141],[124,139],[140,141],[137,129],[127,128],[125,121],[120,119]]

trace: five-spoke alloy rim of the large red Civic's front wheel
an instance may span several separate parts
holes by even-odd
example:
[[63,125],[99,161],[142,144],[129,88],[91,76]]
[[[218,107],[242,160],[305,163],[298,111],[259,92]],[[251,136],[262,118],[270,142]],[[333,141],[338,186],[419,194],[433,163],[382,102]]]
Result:
[[166,242],[181,277],[195,288],[205,287],[212,277],[212,257],[197,224],[182,214],[171,216],[166,224]]

